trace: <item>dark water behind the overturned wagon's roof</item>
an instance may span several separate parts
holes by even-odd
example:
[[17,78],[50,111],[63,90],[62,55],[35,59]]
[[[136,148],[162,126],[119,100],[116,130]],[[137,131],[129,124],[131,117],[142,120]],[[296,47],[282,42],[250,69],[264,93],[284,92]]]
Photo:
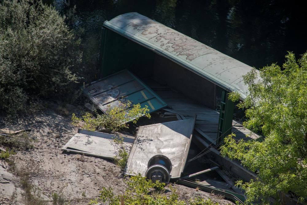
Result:
[[[48,1],[46,1],[48,2]],[[286,51],[297,57],[307,50],[305,1],[277,0],[62,0],[76,5],[87,36],[98,36],[105,20],[138,12],[214,49],[257,68],[277,62]],[[99,43],[99,38],[94,40]]]

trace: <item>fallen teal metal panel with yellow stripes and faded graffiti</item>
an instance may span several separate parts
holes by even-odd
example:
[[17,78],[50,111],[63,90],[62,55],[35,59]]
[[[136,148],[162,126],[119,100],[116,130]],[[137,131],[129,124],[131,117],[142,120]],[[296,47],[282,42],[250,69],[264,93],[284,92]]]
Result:
[[128,70],[94,81],[86,85],[83,92],[104,113],[108,105],[112,108],[127,101],[130,101],[132,105],[139,103],[142,108],[147,105],[149,112],[155,112],[167,106],[157,94]]

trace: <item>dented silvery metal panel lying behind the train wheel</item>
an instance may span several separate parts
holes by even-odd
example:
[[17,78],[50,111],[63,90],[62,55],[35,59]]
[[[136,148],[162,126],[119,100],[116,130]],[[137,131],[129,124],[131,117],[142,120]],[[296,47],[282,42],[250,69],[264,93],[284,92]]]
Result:
[[185,168],[195,118],[140,126],[124,174],[145,176],[148,161],[164,155],[172,162],[171,178],[179,178]]

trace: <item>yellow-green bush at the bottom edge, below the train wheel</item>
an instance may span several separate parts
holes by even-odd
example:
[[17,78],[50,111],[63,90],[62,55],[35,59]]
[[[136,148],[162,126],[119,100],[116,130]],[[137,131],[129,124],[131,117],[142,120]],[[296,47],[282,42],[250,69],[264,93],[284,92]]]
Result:
[[98,201],[109,204],[161,204],[161,205],[218,205],[219,203],[213,203],[210,199],[190,199],[188,203],[178,199],[176,189],[170,185],[172,193],[169,197],[163,195],[165,192],[165,184],[156,181],[153,183],[151,180],[147,180],[142,177],[141,174],[132,176],[125,180],[127,188],[122,195],[114,195],[113,189],[102,188],[100,191],[99,199],[91,200],[89,204],[96,204]]

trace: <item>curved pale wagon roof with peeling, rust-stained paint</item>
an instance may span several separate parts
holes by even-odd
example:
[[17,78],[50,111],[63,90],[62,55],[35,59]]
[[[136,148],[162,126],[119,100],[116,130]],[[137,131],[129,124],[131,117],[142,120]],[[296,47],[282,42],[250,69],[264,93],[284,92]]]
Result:
[[103,26],[246,98],[248,86],[242,76],[251,66],[136,12],[119,15]]

